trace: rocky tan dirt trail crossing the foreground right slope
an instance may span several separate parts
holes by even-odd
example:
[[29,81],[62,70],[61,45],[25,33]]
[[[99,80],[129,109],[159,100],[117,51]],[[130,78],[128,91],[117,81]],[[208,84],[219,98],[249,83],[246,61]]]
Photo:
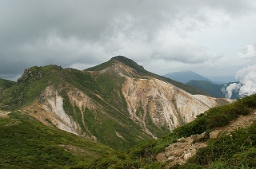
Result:
[[[224,127],[215,128],[213,132],[210,132],[210,139],[218,137],[219,133],[225,132],[229,134],[230,132],[238,128],[246,128],[256,121],[256,110],[252,111],[247,116],[239,116],[237,120],[231,121]],[[157,161],[166,162],[168,161],[169,167],[175,164],[186,163],[190,157],[196,154],[199,148],[206,147],[206,142],[202,142],[206,138],[206,134],[190,136],[186,138],[178,139],[177,143],[172,143],[166,147],[166,151],[159,153],[156,156]]]

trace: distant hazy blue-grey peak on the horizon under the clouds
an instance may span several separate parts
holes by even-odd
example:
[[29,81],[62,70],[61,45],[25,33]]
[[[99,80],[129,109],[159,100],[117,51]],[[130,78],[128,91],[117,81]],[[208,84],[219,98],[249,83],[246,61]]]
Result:
[[198,73],[194,73],[190,70],[183,70],[182,72],[174,72],[167,73],[163,75],[163,77],[167,77],[173,79],[174,81],[179,81],[186,84],[188,81],[196,80],[196,81],[210,81],[206,77],[202,77]]

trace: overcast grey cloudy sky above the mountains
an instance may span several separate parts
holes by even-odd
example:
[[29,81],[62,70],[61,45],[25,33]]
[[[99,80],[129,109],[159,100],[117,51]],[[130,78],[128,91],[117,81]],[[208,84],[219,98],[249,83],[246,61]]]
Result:
[[111,57],[163,75],[232,75],[256,64],[254,0],[0,0],[0,78]]

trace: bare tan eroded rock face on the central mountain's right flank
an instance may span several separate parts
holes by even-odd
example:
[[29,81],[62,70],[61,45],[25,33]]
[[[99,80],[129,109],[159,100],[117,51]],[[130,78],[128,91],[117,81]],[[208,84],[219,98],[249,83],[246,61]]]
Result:
[[[122,92],[132,119],[145,124],[148,114],[155,125],[168,127],[170,131],[190,123],[198,114],[219,105],[217,98],[191,95],[155,78],[126,77]],[[228,101],[230,100],[226,100]],[[138,115],[138,109],[142,109],[143,114]]]

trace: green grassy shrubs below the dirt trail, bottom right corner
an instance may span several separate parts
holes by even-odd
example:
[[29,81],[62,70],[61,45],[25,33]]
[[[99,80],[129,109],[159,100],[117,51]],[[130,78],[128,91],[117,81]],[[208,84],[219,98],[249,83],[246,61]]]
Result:
[[241,128],[230,135],[209,140],[207,145],[199,149],[186,165],[193,163],[210,168],[255,168],[256,122],[250,128]]

